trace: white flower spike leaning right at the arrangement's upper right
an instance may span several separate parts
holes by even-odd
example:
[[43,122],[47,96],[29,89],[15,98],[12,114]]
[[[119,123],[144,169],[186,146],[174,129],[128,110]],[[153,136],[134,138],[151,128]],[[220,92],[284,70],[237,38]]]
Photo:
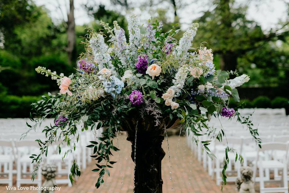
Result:
[[178,57],[185,56],[188,53],[188,49],[190,49],[192,45],[191,41],[194,39],[198,27],[198,23],[193,23],[184,33],[184,35],[180,39],[179,45],[176,47],[176,55]]

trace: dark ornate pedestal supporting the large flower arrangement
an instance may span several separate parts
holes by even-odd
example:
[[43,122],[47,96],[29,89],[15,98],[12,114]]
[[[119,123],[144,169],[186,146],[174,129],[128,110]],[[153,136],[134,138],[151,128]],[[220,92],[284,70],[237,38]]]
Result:
[[128,132],[127,140],[132,143],[131,157],[135,161],[135,193],[163,192],[161,161],[166,154],[162,148],[163,132],[137,131],[136,154],[135,133]]

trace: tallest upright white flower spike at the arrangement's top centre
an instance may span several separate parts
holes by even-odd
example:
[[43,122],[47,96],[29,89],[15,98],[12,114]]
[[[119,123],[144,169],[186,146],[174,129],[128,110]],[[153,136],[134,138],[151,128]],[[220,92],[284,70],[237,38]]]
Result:
[[141,32],[139,29],[139,21],[135,14],[130,14],[128,19],[129,44],[131,50],[136,53],[141,42]]

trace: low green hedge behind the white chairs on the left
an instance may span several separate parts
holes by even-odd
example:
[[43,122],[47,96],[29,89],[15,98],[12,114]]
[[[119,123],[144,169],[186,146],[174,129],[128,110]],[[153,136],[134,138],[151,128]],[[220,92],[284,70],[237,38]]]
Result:
[[27,118],[31,103],[40,100],[41,96],[0,96],[0,118]]

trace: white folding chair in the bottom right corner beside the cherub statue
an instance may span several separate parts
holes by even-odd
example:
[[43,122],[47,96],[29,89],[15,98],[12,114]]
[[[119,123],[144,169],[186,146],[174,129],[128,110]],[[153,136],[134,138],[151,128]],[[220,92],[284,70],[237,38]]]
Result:
[[[254,179],[256,178],[257,167],[259,168],[260,193],[288,193],[288,179],[287,179],[287,155],[282,160],[270,159],[272,151],[282,150],[288,152],[288,143],[282,142],[268,142],[262,143],[262,148],[258,149],[257,159],[254,167]],[[265,153],[265,160],[259,159],[259,153]],[[264,169],[282,169],[281,187],[265,187]]]

